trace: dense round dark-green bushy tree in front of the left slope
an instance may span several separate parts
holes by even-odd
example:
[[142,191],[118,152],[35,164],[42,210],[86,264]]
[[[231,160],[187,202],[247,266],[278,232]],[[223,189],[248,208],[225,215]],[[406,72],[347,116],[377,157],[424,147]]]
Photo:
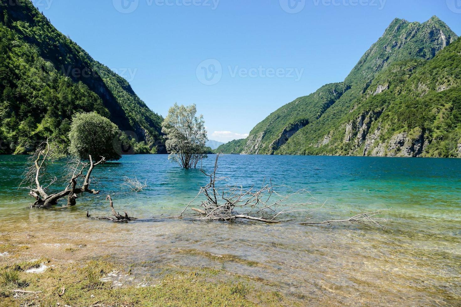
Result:
[[80,159],[103,156],[106,160],[118,160],[120,155],[114,150],[113,140],[120,130],[106,117],[93,113],[77,114],[71,124],[69,152]]

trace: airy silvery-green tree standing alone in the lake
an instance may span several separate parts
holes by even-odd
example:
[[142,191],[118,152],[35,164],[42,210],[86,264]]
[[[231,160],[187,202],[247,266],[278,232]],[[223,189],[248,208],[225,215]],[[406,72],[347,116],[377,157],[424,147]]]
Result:
[[169,158],[186,169],[197,167],[197,163],[207,157],[205,121],[203,115],[197,117],[196,113],[195,104],[174,104],[162,123]]

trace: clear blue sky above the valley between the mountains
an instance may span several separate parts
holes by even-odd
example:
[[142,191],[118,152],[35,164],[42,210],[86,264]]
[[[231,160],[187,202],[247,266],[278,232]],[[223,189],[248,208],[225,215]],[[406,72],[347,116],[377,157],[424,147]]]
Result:
[[461,34],[461,0],[32,2],[152,110],[165,116],[175,102],[195,103],[209,138],[223,142],[343,81],[395,17],[437,15]]

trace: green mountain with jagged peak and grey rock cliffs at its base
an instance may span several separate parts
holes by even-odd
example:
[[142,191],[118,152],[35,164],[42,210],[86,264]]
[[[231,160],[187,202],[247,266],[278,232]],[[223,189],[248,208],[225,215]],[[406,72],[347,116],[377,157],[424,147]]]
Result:
[[437,17],[395,19],[343,82],[284,105],[247,139],[248,154],[461,156],[461,50]]

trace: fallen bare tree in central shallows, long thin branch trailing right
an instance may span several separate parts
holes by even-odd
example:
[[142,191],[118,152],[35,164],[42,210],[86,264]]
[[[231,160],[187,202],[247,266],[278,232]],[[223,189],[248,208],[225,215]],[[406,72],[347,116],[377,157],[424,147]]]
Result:
[[[306,190],[298,190],[288,195],[278,193],[278,188],[286,186],[273,185],[272,181],[263,181],[261,186],[250,186],[244,188],[242,185],[227,185],[229,178],[217,177],[218,159],[221,153],[216,156],[213,173],[207,174],[203,169],[203,174],[209,177],[207,185],[200,188],[197,196],[184,208],[179,217],[187,209],[198,212],[199,217],[194,220],[254,220],[265,223],[282,223],[293,220],[310,219],[310,213],[316,210],[324,209],[324,204],[316,204],[312,202],[314,198]],[[290,199],[308,197],[306,202],[292,202]],[[198,207],[198,208],[197,208]],[[380,226],[380,223],[389,221],[387,219],[378,218],[377,215],[381,211],[357,214],[348,220],[330,220],[324,222],[300,223],[307,224],[328,224],[332,225],[335,222],[352,222],[363,225]]]

